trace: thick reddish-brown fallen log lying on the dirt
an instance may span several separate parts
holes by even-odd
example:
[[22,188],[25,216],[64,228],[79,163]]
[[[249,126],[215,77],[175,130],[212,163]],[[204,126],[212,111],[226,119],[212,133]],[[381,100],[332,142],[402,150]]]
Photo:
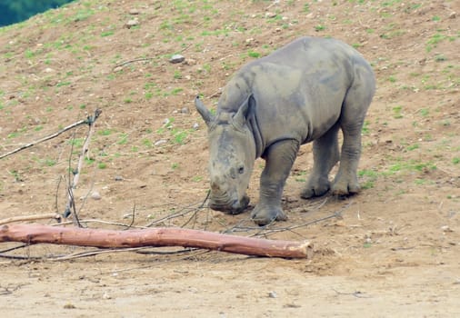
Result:
[[184,228],[151,228],[115,231],[42,224],[6,224],[0,226],[0,243],[54,243],[124,248],[143,246],[183,246],[245,255],[312,258],[313,244],[268,240]]

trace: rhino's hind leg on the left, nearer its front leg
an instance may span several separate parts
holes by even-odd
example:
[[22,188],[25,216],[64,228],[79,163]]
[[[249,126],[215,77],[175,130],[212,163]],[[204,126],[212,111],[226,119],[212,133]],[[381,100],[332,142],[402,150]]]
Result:
[[313,143],[313,170],[300,194],[304,199],[324,195],[331,187],[329,172],[339,160],[338,128],[335,124]]

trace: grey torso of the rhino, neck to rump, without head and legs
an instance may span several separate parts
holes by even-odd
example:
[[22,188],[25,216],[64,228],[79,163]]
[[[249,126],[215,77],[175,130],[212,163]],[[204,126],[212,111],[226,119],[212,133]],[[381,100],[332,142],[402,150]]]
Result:
[[338,120],[356,74],[374,81],[354,48],[335,39],[303,37],[238,71],[225,86],[217,111],[235,112],[253,94],[264,147],[282,139],[304,144]]

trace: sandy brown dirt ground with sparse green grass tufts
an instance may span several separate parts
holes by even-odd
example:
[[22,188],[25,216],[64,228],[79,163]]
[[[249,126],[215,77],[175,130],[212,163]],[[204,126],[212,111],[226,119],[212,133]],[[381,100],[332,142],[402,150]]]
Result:
[[[134,215],[139,227],[315,244],[314,258],[285,260],[0,243],[2,316],[460,316],[458,15],[447,0],[82,0],[0,28],[0,154],[102,110],[75,189],[82,224],[124,229]],[[375,69],[363,190],[300,199],[305,145],[285,186],[289,220],[258,229],[250,212],[201,205],[208,152],[193,99],[215,107],[241,65],[300,35],[341,39]],[[185,61],[170,63],[174,54]],[[86,134],[0,159],[0,218],[63,213]]]

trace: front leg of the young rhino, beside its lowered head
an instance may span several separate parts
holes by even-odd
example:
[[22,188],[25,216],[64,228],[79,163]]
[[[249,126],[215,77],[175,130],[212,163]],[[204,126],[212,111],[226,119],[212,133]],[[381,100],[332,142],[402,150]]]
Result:
[[260,177],[259,203],[251,214],[256,224],[265,225],[273,221],[287,220],[281,208],[281,196],[298,150],[297,141],[285,140],[272,144],[265,151],[265,168]]

